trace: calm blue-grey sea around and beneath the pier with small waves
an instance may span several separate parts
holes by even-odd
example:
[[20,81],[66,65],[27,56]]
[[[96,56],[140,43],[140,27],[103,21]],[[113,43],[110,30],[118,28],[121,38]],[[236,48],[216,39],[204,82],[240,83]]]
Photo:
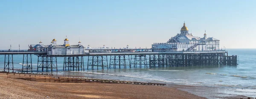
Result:
[[[256,97],[256,49],[227,49],[228,55],[238,55],[237,66],[183,66],[131,69],[90,69],[84,71],[63,71],[64,58],[57,58],[58,71],[54,75],[80,76],[95,79],[158,82],[168,85],[188,85],[180,88],[209,99],[223,97]],[[33,72],[37,68],[36,55],[32,55]],[[22,68],[23,55],[14,55],[15,69]],[[87,57],[84,57],[87,60]],[[0,55],[0,70],[3,70],[4,55]],[[87,67],[87,62],[84,61]],[[40,72],[41,73],[41,72]],[[221,98],[222,97],[222,98]]]

